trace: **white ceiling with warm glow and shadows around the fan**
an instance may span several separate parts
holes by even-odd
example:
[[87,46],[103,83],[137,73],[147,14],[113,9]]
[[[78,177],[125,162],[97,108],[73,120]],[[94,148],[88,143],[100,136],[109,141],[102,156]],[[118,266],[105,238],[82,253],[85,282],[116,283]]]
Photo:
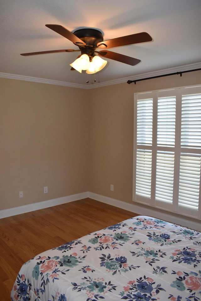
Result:
[[[0,75],[20,75],[66,82],[94,84],[94,75],[71,71],[79,52],[21,56],[20,53],[78,49],[47,28],[59,24],[70,31],[99,29],[104,40],[148,32],[153,41],[111,48],[141,62],[130,66],[110,59],[96,74],[96,83],[136,79],[141,74],[201,67],[201,0],[1,0]],[[85,71],[84,71],[85,72]]]

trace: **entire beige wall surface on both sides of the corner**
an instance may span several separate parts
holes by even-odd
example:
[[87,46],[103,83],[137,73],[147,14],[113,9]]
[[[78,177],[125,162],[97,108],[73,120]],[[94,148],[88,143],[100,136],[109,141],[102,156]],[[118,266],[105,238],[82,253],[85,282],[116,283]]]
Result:
[[91,90],[0,78],[0,210],[85,191],[132,203],[133,94],[200,82],[200,71]]

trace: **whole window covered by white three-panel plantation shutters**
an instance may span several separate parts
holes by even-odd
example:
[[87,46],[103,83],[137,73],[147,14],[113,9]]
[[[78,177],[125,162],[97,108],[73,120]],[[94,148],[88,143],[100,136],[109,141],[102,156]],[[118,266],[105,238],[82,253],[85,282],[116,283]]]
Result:
[[201,218],[201,86],[134,95],[133,201]]

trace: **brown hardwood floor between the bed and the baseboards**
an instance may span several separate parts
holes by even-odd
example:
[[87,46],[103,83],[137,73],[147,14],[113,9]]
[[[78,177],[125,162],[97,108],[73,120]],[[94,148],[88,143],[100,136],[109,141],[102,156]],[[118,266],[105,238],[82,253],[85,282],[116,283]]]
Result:
[[30,258],[136,215],[86,198],[0,219],[1,300],[10,301],[20,267]]

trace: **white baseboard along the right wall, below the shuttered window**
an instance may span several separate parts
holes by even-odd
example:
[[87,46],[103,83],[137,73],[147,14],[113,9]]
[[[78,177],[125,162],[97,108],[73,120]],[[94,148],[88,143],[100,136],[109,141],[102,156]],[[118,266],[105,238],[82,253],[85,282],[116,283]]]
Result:
[[124,210],[128,210],[130,212],[134,212],[139,215],[147,215],[151,217],[155,217],[158,219],[162,219],[165,221],[168,221],[173,224],[181,225],[183,227],[187,227],[190,229],[194,229],[196,231],[201,232],[201,222],[192,222],[186,219],[177,218],[175,216],[172,216],[170,214],[160,213],[158,211],[155,211],[153,209],[147,209],[144,207],[140,207],[138,205],[125,203],[119,200],[116,200],[114,198],[108,198],[100,194],[89,192],[89,198],[92,198],[96,201],[106,203]]

